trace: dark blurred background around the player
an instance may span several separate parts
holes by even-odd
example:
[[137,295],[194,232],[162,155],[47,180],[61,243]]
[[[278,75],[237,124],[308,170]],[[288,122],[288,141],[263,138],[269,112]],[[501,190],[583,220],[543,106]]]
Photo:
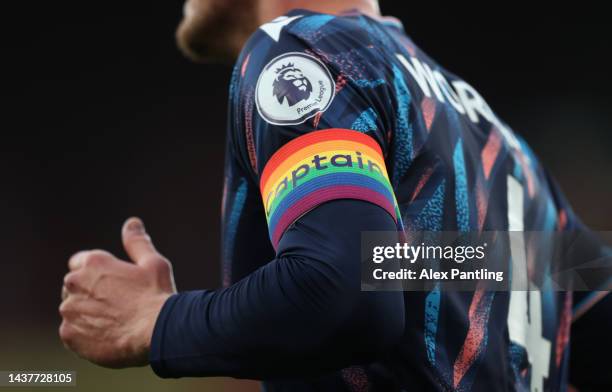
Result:
[[[587,224],[612,230],[612,34],[597,10],[381,5],[531,143]],[[230,67],[179,54],[180,1],[20,7],[5,13],[2,37],[0,369],[75,369],[71,390],[258,390],[105,370],[57,337],[69,256],[124,257],[120,228],[131,215],[173,261],[180,290],[220,285]]]

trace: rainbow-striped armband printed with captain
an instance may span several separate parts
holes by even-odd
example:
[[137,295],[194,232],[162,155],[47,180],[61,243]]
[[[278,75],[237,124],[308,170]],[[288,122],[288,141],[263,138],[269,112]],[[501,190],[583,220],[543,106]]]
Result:
[[274,248],[300,216],[336,199],[374,203],[401,228],[380,146],[361,132],[326,129],[292,140],[270,158],[259,185]]

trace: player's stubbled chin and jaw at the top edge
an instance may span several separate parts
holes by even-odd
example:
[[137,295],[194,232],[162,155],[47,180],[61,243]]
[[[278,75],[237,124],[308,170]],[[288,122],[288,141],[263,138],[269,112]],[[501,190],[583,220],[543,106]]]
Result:
[[259,0],[186,0],[176,38],[194,61],[231,61],[257,29]]

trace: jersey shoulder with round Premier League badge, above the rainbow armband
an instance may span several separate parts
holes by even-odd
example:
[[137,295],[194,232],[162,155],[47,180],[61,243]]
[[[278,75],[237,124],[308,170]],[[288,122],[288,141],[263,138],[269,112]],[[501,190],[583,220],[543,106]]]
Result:
[[358,130],[385,145],[387,78],[366,22],[292,11],[251,36],[234,67],[230,121],[254,172],[318,130]]

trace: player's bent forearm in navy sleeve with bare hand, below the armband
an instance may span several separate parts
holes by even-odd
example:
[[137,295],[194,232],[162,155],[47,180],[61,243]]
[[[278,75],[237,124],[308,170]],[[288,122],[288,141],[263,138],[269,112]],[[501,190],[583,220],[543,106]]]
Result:
[[404,307],[399,292],[360,291],[356,244],[364,230],[395,230],[395,223],[368,202],[324,203],[245,279],[178,294],[148,236],[125,230],[135,264],[96,251],[71,259],[60,334],[95,363],[144,365],[150,357],[164,377],[271,378],[371,361],[403,334]]

